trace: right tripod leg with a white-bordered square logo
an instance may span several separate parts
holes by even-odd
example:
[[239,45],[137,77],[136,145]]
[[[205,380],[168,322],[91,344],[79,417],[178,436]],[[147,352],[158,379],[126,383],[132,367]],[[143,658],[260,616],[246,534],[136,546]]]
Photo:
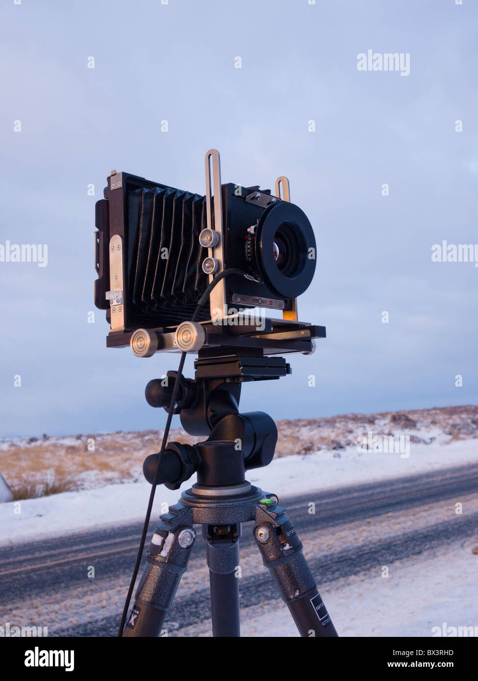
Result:
[[286,603],[301,636],[338,636],[305,562],[302,544],[286,510],[273,501],[256,507],[256,539],[280,597]]

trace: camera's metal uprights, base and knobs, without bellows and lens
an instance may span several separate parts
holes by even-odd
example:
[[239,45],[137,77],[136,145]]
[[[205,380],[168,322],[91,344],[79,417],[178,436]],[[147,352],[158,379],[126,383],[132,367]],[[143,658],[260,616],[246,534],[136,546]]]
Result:
[[[130,345],[138,357],[151,357],[155,352],[197,352],[200,348],[230,347],[231,349],[258,349],[263,355],[277,355],[282,353],[310,354],[315,349],[315,338],[325,338],[325,327],[313,326],[301,322],[297,317],[297,299],[294,298],[282,309],[282,319],[265,317],[261,319],[258,330],[254,324],[248,324],[245,317],[250,317],[248,308],[275,306],[269,299],[237,300],[236,314],[228,314],[226,300],[226,283],[222,279],[211,291],[209,308],[211,319],[208,321],[183,322],[171,326],[153,329],[128,330],[125,328],[126,310],[128,306],[125,295],[125,223],[123,216],[123,196],[128,177],[125,173],[112,171],[108,176],[108,202],[102,204],[100,210],[108,227],[108,253],[104,252],[105,244],[100,243],[99,233],[96,233],[96,268],[100,269],[108,262],[110,281],[109,290],[100,291],[104,302],[110,308],[110,332],[106,338],[107,347],[127,347]],[[222,191],[220,155],[217,150],[210,149],[205,156],[206,178],[206,210],[207,231],[210,245],[208,256],[213,259],[215,269],[209,274],[209,283],[216,274],[224,270],[224,225],[222,215]],[[151,185],[153,186],[153,185]],[[282,194],[282,195],[281,195]],[[275,180],[275,196],[265,191],[254,191],[245,201],[266,208],[273,202],[290,202],[290,187],[288,178],[280,176]],[[217,236],[215,236],[217,235]],[[106,260],[107,259],[107,260]],[[106,282],[103,283],[106,287]],[[106,300],[105,300],[106,298]],[[260,305],[260,303],[263,305]],[[213,319],[213,311],[215,318]],[[218,314],[219,312],[219,314]],[[242,317],[242,319],[241,319]]]

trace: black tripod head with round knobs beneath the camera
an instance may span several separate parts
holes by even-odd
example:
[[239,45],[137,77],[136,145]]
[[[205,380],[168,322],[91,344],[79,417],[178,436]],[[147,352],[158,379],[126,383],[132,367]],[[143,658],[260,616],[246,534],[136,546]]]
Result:
[[[209,488],[215,488],[215,493],[248,492],[245,471],[271,462],[277,428],[262,411],[239,413],[241,384],[279,379],[290,374],[290,364],[282,357],[264,357],[257,349],[224,348],[219,353],[200,351],[194,368],[194,379],[179,377],[174,413],[179,414],[186,432],[209,437],[196,445],[168,443],[156,481],[175,490],[197,472],[198,483],[193,486],[197,494],[205,494]],[[149,381],[145,396],[151,407],[169,411],[176,377],[175,371],[168,371],[165,379]],[[143,465],[150,484],[155,479],[158,457],[151,454]]]

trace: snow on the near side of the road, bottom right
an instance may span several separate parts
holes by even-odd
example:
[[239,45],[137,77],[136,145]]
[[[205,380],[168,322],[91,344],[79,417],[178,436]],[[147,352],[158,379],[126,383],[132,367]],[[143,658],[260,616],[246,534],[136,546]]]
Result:
[[[391,563],[389,577],[378,566],[374,574],[353,575],[319,591],[339,636],[429,637],[448,627],[478,632],[477,567],[470,545],[453,545],[440,556]],[[299,635],[282,601],[267,605],[241,612],[242,636]],[[194,635],[192,630],[182,635]]]

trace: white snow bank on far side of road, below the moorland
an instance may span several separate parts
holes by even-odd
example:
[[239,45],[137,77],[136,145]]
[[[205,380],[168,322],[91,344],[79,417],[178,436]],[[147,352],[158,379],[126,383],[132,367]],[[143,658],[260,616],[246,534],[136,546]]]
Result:
[[[293,496],[476,462],[477,455],[478,439],[446,445],[410,443],[409,458],[401,458],[399,453],[360,454],[357,447],[340,452],[323,449],[275,459],[267,468],[250,471],[246,477],[266,492]],[[160,486],[151,517],[164,513],[193,482],[194,477],[175,491]],[[140,481],[0,504],[0,543],[57,537],[110,523],[143,520],[150,490],[147,482]]]

